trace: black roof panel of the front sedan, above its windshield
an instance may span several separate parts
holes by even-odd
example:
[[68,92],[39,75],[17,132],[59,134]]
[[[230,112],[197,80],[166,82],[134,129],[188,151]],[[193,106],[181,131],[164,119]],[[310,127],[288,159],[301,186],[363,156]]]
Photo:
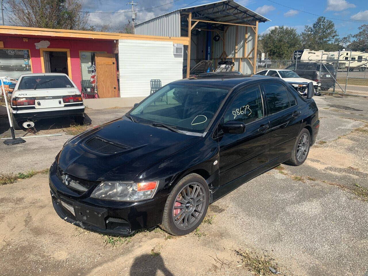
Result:
[[187,78],[174,81],[174,84],[184,85],[198,85],[198,86],[213,86],[221,88],[233,88],[238,84],[246,84],[253,81],[273,79],[274,77],[262,76],[262,75],[239,75],[239,76],[222,76],[216,77],[215,75],[211,78]]

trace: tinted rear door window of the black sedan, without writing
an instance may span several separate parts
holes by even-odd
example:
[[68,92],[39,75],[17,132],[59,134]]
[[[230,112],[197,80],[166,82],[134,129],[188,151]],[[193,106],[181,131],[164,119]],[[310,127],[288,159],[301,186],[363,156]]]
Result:
[[269,114],[279,112],[290,107],[289,97],[287,96],[286,87],[280,83],[263,84],[267,97],[267,105]]

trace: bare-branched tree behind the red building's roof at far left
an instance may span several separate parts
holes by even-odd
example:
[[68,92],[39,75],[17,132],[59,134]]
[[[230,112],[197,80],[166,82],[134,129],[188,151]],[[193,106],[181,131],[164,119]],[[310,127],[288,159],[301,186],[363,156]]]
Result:
[[90,29],[80,0],[8,0],[15,26],[51,29]]

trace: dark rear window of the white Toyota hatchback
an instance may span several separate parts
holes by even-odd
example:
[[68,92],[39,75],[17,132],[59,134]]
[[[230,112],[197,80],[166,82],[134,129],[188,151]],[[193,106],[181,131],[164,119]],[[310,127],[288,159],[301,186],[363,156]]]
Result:
[[63,75],[27,76],[22,77],[18,90],[74,88],[71,81]]

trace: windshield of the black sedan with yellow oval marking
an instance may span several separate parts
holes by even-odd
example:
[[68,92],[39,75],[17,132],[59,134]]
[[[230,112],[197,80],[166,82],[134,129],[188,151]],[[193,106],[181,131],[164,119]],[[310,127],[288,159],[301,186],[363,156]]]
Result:
[[229,90],[169,84],[135,107],[130,116],[138,123],[162,123],[177,130],[203,133]]

